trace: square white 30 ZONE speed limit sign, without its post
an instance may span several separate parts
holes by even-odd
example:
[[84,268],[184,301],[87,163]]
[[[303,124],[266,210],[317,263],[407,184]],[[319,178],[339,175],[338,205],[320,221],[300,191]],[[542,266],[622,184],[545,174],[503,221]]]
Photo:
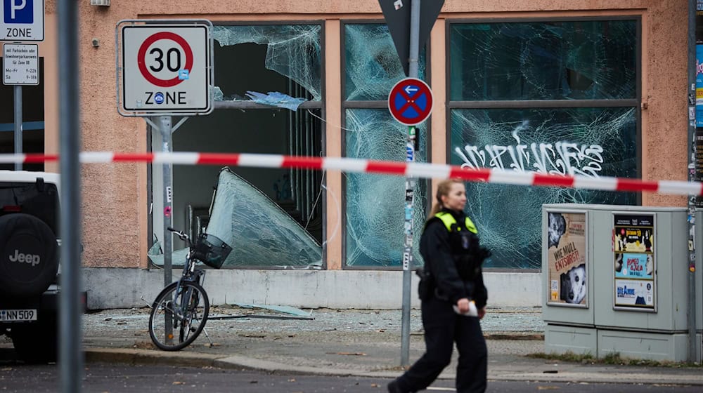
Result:
[[[127,22],[131,24],[125,24]],[[117,24],[118,39],[122,39],[122,55],[117,59],[120,114],[212,112],[212,25],[208,21],[143,22],[131,20]]]

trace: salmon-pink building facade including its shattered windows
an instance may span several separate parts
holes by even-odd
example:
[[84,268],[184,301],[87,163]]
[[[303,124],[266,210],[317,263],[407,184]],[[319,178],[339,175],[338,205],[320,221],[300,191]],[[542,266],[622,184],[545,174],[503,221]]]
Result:
[[[434,107],[419,127],[417,160],[685,180],[687,6],[684,0],[446,0],[420,52],[420,78],[432,88]],[[84,151],[160,151],[158,131],[117,112],[117,23],[207,19],[214,25],[214,111],[185,121],[173,135],[174,151],[405,159],[406,128],[387,111],[389,89],[405,75],[378,1],[81,1],[79,9]],[[58,153],[60,32],[53,0],[46,3],[45,29],[41,86],[25,99],[32,100],[25,106],[41,102],[43,111],[26,121],[43,122],[43,129],[28,133],[33,142],[25,145]],[[8,91],[4,86],[4,102]],[[302,104],[264,105],[252,92],[283,93]],[[11,152],[9,134],[0,133]],[[160,166],[140,163],[82,166],[86,267],[159,265],[149,255],[163,237],[160,173]],[[402,178],[174,166],[174,226],[204,230],[214,187],[218,197],[232,193],[227,212],[237,240],[226,267],[392,271],[401,265]],[[489,272],[539,269],[541,204],[685,205],[683,197],[647,193],[467,189],[468,213],[494,249]],[[432,182],[418,181],[416,239],[431,195]],[[247,206],[254,213],[245,215]],[[421,264],[419,256],[415,262]]]

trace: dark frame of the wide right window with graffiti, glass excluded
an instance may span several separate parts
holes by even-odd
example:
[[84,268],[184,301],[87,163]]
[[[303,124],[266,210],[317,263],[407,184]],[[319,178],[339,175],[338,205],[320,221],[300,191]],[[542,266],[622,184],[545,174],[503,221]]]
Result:
[[[584,21],[633,21],[636,24],[636,50],[635,50],[635,71],[636,77],[634,83],[635,97],[620,98],[620,99],[581,99],[581,100],[451,100],[451,44],[452,44],[452,27],[455,25],[466,24],[489,24],[489,23],[550,23],[550,22],[584,22]],[[453,154],[453,146],[451,145],[452,131],[451,119],[453,112],[460,109],[559,109],[559,108],[581,108],[581,107],[631,107],[635,110],[636,121],[636,174],[638,178],[642,175],[642,112],[640,102],[642,99],[642,18],[638,15],[612,15],[599,17],[569,17],[569,18],[489,18],[489,19],[453,19],[446,20],[445,31],[446,51],[446,102],[448,110],[446,111],[446,124],[448,132],[446,134],[446,156],[447,161],[451,163]],[[510,187],[504,185],[502,187]],[[636,193],[636,204],[642,204],[642,194]],[[481,223],[479,223],[481,225]],[[500,223],[498,225],[505,225]],[[518,241],[515,239],[515,241]],[[484,270],[489,272],[540,272],[541,262],[534,267],[484,267]]]

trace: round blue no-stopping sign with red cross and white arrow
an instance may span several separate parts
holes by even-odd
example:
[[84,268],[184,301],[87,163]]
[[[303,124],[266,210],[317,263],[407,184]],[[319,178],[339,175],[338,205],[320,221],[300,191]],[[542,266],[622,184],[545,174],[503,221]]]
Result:
[[420,79],[399,81],[388,95],[388,110],[399,123],[415,126],[432,113],[432,90]]

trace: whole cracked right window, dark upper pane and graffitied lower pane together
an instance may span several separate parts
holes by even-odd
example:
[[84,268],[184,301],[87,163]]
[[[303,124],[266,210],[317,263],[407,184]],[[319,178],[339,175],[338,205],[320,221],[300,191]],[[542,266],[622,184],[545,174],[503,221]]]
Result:
[[[450,164],[639,177],[638,21],[452,24],[449,32]],[[467,214],[493,253],[485,266],[517,269],[541,267],[542,204],[639,199],[474,182],[467,194]]]

